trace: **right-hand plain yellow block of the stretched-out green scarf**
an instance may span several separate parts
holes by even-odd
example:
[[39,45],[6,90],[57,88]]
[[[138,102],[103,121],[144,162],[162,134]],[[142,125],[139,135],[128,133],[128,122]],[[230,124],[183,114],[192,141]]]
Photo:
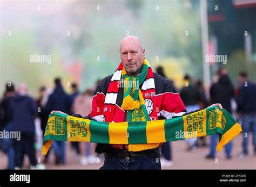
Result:
[[147,143],[165,142],[164,120],[147,121]]

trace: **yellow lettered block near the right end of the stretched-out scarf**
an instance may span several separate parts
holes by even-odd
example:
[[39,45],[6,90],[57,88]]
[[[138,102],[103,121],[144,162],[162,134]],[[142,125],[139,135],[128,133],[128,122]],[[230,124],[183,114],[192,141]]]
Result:
[[183,121],[185,139],[206,135],[206,110],[186,115]]

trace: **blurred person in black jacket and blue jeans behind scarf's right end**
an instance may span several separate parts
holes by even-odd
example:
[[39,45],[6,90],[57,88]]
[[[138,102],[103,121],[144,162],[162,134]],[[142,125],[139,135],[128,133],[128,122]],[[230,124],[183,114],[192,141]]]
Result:
[[[231,113],[231,98],[234,98],[234,87],[227,75],[227,71],[221,74],[217,83],[212,84],[210,89],[211,103],[218,102],[223,105],[229,113]],[[210,154],[206,159],[215,159],[215,147],[217,144],[217,134],[211,135],[211,149]],[[231,159],[232,141],[225,146],[226,159]]]

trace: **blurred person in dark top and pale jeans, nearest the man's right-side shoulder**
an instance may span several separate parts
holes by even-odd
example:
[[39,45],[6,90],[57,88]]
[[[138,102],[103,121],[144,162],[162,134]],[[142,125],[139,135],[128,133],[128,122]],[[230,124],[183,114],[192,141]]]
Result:
[[[190,76],[184,76],[185,86],[180,90],[180,98],[183,100],[183,103],[186,106],[187,112],[192,112],[199,110],[199,102],[201,100],[201,95],[197,87],[194,87],[191,81]],[[197,139],[191,138],[186,139],[187,150],[195,150],[197,147]]]

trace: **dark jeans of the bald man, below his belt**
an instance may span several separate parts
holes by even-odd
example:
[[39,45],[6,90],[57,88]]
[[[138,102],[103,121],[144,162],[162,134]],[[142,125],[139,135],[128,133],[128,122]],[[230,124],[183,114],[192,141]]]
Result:
[[107,155],[100,169],[161,169],[159,157],[138,156],[129,160]]

